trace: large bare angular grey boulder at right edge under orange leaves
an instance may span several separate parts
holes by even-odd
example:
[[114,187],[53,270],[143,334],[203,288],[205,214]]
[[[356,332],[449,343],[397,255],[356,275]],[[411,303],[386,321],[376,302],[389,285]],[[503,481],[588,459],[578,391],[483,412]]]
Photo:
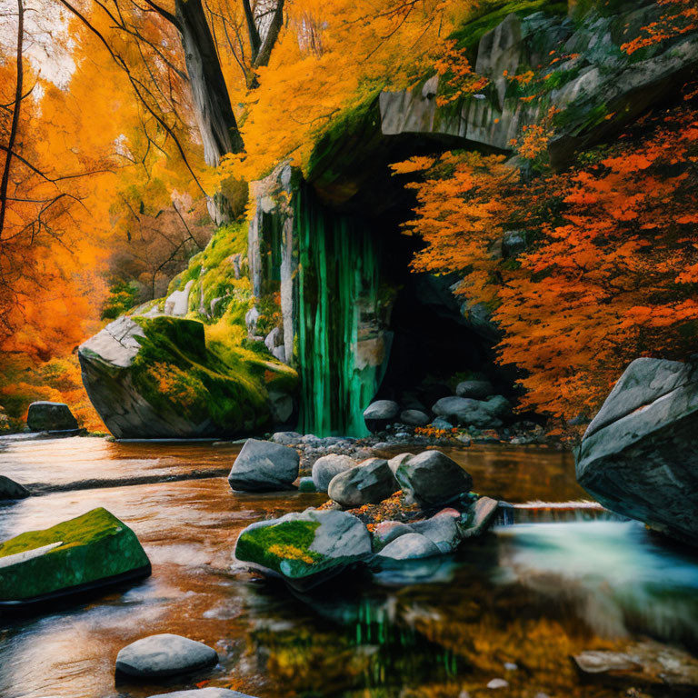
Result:
[[575,454],[579,484],[604,507],[698,540],[698,365],[637,359]]

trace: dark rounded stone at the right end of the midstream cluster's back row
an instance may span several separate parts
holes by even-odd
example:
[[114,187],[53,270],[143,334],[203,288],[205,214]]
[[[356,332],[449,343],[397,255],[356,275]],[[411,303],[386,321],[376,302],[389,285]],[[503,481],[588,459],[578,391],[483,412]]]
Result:
[[405,460],[395,477],[404,493],[422,506],[446,504],[473,487],[470,474],[440,451],[424,451]]

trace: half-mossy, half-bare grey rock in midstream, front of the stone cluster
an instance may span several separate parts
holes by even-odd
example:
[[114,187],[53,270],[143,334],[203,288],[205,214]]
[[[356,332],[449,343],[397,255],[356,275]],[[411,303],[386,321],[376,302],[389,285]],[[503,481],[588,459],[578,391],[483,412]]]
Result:
[[371,535],[352,514],[308,509],[244,529],[235,556],[304,591],[371,554]]

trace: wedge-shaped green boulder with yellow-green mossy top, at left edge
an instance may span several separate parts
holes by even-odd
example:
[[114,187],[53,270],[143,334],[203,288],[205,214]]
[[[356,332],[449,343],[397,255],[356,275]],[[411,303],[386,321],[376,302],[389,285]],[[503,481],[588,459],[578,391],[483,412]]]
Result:
[[0,544],[0,606],[35,603],[145,577],[135,533],[105,509]]

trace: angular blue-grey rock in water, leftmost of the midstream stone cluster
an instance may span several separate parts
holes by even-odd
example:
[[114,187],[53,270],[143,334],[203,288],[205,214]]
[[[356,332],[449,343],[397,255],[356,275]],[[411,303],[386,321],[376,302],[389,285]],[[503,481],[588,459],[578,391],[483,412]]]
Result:
[[247,439],[235,458],[228,484],[238,492],[289,490],[298,477],[300,461],[294,448]]

